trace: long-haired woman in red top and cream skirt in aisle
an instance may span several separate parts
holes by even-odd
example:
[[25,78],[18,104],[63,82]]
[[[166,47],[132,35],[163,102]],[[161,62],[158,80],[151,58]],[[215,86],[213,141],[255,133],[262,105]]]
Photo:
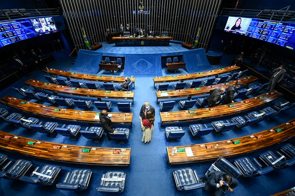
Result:
[[146,117],[145,119],[142,120],[141,116],[139,117],[141,128],[143,130],[143,135],[142,135],[142,140],[145,144],[149,143],[150,140],[152,140],[153,137],[153,130],[154,130],[154,125],[153,123],[155,122],[155,117],[153,113],[148,110],[146,112]]

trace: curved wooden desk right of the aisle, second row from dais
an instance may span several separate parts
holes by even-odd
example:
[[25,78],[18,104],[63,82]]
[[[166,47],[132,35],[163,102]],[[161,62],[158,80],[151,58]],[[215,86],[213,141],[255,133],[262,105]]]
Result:
[[241,82],[242,86],[245,86],[249,83],[255,82],[256,80],[258,80],[258,78],[255,78],[254,76],[248,76],[246,78],[226,82],[223,84],[198,87],[197,88],[198,90],[196,90],[196,88],[188,88],[188,89],[183,89],[183,90],[166,91],[168,93],[168,96],[165,96],[165,97],[161,97],[161,95],[160,95],[163,91],[160,91],[160,92],[156,91],[156,95],[157,95],[157,102],[156,103],[158,103],[158,99],[171,99],[171,98],[179,98],[179,97],[188,97],[188,99],[191,99],[192,96],[199,96],[199,95],[208,94],[208,93],[210,93],[210,90],[214,89],[214,88],[224,87],[225,89],[227,89],[228,86],[230,86],[231,84],[235,84],[237,81]]

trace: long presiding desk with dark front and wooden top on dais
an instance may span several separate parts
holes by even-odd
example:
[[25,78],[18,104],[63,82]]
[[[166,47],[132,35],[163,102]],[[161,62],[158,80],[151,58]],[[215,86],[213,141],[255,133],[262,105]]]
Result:
[[116,46],[169,46],[172,37],[113,37]]

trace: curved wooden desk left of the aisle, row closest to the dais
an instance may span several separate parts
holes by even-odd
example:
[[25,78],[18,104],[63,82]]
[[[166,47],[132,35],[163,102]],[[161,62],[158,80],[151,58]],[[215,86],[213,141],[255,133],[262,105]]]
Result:
[[[97,76],[97,75],[88,75],[82,73],[75,73],[75,72],[68,72],[62,71],[58,69],[43,69],[44,73],[48,73],[50,76],[62,76],[70,80],[70,78],[77,79],[77,80],[87,80],[87,81],[96,81],[96,82],[111,82],[111,83],[124,83],[125,77],[117,77],[117,76]],[[135,78],[130,78],[133,81],[133,86],[135,88]]]

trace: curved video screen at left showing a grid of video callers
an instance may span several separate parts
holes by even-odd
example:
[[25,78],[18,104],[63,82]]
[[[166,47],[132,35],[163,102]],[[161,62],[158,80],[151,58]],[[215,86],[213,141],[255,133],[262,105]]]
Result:
[[0,47],[55,32],[57,28],[52,17],[0,21]]

